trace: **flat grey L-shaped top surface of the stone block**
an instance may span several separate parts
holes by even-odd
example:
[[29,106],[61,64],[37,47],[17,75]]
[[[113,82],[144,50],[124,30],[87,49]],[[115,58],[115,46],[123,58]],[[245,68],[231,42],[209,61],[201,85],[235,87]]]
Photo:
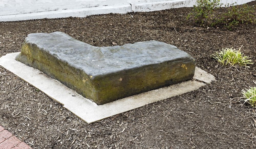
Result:
[[83,70],[93,78],[143,65],[194,59],[173,45],[155,40],[123,46],[95,47],[65,33],[54,32],[29,34],[25,42],[36,44],[41,50]]

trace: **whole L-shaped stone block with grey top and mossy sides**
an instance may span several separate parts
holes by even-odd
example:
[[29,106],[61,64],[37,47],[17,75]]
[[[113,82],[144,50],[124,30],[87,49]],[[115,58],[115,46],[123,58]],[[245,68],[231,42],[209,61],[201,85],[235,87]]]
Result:
[[192,79],[195,72],[195,59],[173,45],[94,47],[62,32],[29,34],[16,60],[98,105]]

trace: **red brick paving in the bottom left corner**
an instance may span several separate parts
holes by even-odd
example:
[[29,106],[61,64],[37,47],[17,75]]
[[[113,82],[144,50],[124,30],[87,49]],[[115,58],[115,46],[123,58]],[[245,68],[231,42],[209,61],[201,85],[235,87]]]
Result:
[[32,149],[25,142],[13,136],[8,130],[0,126],[0,149]]

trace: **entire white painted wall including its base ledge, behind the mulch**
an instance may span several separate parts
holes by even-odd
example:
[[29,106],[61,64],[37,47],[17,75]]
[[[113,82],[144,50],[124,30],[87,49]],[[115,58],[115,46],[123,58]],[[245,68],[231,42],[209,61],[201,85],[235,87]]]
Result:
[[[223,4],[253,0],[222,0]],[[94,14],[191,7],[196,0],[0,0],[0,21],[86,17]]]

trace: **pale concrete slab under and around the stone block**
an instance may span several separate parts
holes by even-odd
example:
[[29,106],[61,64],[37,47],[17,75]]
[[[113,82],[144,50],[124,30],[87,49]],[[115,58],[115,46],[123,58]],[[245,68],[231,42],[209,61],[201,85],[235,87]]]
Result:
[[193,80],[144,92],[104,105],[97,105],[91,100],[82,97],[74,90],[64,86],[59,81],[42,74],[41,71],[16,61],[14,58],[18,53],[20,52],[9,53],[1,57],[0,65],[46,93],[50,98],[61,103],[65,108],[87,123],[99,121],[106,117],[129,111],[146,104],[196,90],[206,85],[205,83],[210,83],[215,80],[214,76],[196,67],[195,79]]

